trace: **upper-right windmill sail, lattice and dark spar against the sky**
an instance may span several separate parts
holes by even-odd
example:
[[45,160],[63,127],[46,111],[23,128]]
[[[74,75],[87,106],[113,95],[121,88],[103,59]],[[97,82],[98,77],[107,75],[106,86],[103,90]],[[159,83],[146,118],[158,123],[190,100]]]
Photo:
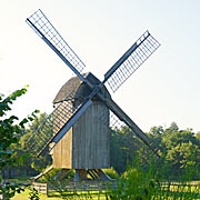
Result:
[[146,31],[104,74],[103,82],[114,92],[159,47],[160,43]]

